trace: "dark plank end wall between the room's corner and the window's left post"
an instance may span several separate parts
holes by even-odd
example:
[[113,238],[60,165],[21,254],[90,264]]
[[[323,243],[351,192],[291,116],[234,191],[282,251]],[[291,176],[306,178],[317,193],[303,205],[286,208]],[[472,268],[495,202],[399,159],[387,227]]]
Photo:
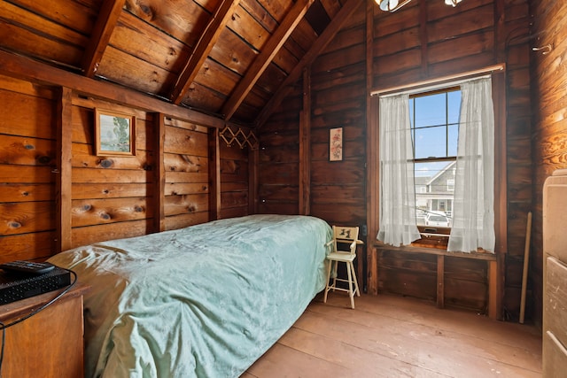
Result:
[[[362,225],[365,207],[364,7],[312,65],[311,214]],[[260,128],[259,212],[299,212],[299,113],[303,83]],[[343,160],[329,160],[330,128],[343,127]]]

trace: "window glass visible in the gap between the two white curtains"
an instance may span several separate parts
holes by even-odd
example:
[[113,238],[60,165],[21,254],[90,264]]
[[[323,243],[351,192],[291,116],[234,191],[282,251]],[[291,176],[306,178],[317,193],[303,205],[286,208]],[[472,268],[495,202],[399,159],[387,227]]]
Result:
[[[454,165],[457,156],[461,89],[435,90],[409,96],[409,120],[414,156],[416,209],[445,221],[426,221],[416,215],[423,234],[426,226],[448,238],[454,202]],[[428,190],[423,191],[423,183]],[[448,220],[448,221],[447,221]]]

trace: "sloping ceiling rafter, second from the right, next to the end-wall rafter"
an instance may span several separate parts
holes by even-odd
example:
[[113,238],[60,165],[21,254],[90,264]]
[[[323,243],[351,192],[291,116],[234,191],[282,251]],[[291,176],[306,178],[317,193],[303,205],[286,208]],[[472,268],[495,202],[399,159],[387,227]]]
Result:
[[277,27],[276,32],[268,39],[266,45],[262,48],[260,55],[256,57],[252,66],[246,71],[245,77],[238,81],[237,87],[232,92],[229,100],[222,106],[221,114],[225,120],[230,118],[237,111],[238,106],[242,104],[245,97],[252,90],[256,81],[266,68],[268,68],[272,59],[276,57],[278,51],[282,48],[288,37],[291,35],[299,21],[303,18],[307,10],[315,0],[298,0],[292,7],[290,12],[285,15],[282,23]]

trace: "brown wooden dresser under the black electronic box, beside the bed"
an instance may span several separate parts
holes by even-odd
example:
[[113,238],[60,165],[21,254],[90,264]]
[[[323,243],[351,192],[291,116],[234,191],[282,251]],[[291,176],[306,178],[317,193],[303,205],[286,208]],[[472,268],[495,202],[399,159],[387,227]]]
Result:
[[[5,329],[3,378],[84,375],[82,296],[87,289],[75,286],[43,311]],[[27,315],[59,291],[0,305],[0,321],[8,324]]]

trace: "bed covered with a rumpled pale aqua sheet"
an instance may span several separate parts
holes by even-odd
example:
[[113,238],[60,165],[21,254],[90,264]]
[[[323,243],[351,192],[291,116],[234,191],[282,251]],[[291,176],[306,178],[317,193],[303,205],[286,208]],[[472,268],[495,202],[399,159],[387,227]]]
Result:
[[315,217],[251,215],[49,261],[91,286],[86,376],[237,377],[324,289],[330,237]]

